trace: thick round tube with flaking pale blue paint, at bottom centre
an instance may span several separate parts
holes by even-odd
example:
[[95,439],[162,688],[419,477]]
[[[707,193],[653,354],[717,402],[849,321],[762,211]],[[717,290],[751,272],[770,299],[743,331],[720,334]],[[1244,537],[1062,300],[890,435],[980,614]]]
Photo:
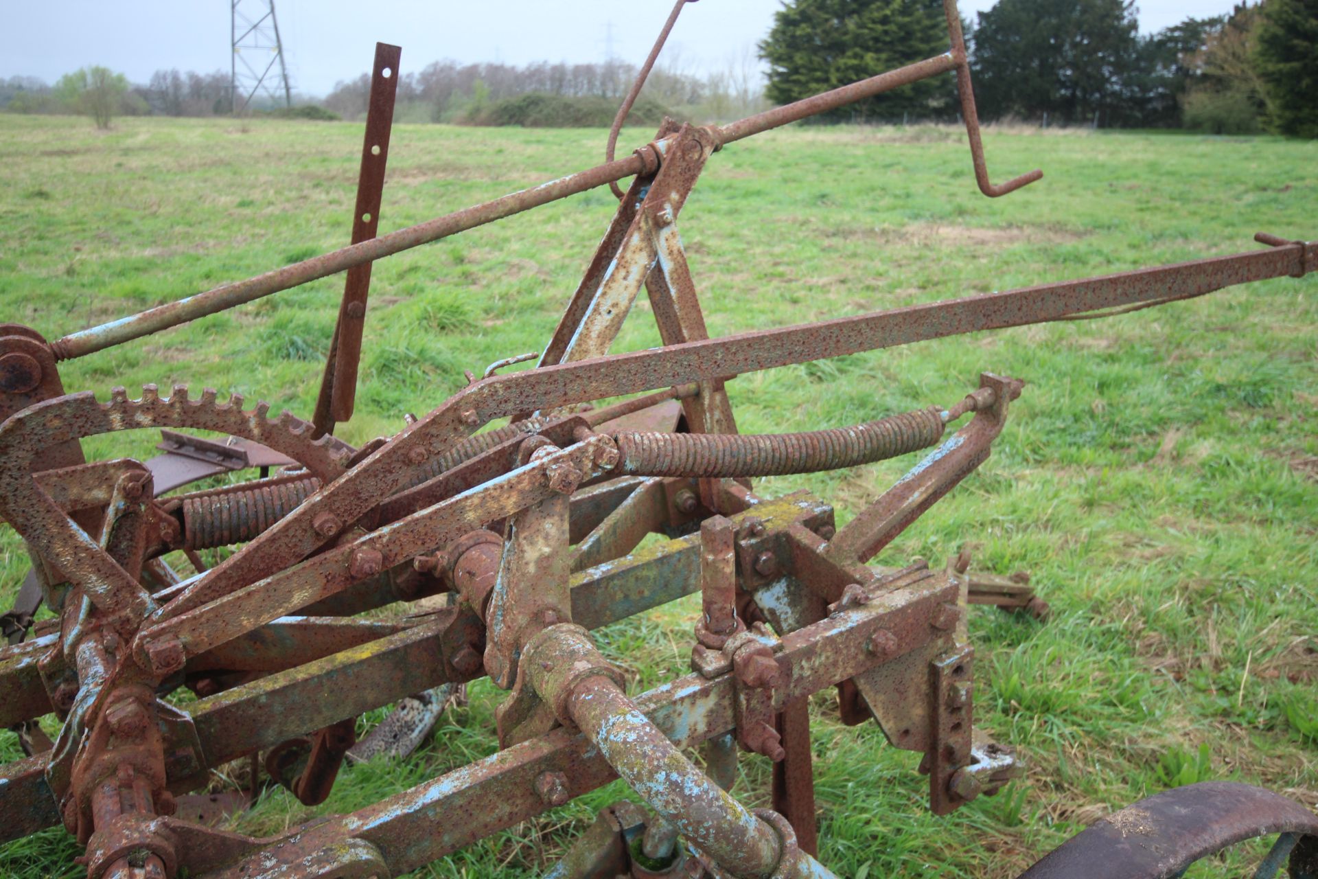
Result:
[[[783,855],[778,832],[751,814],[637,709],[612,680],[573,688],[568,712],[600,754],[666,821],[734,876],[775,875]],[[791,876],[832,876],[801,853]]]

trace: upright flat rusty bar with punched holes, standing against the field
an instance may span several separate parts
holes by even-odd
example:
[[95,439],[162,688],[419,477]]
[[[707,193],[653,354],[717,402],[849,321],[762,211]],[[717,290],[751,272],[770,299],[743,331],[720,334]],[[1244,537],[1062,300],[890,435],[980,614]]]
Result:
[[[370,76],[366,132],[361,144],[361,171],[357,175],[357,204],[352,216],[352,244],[376,237],[380,206],[385,192],[389,162],[389,134],[394,127],[394,96],[398,92],[398,61],[402,49],[376,43],[376,63]],[[320,382],[320,398],[312,423],[320,434],[333,432],[335,422],[352,418],[357,397],[357,366],[361,362],[361,333],[366,326],[366,298],[370,294],[370,265],[348,269],[339,323],[333,328],[331,353]]]

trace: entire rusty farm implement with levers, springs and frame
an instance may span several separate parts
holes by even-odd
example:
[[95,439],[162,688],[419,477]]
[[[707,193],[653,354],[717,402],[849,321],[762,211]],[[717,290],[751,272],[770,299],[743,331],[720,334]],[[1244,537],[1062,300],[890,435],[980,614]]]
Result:
[[[894,746],[924,754],[934,812],[999,788],[1016,767],[971,723],[969,559],[866,563],[983,463],[1021,383],[985,373],[952,406],[743,436],[725,382],[1300,277],[1318,268],[1318,246],[1260,235],[1269,246],[1257,252],[709,339],[676,220],[730,142],[950,71],[981,190],[1003,195],[1041,177],[988,182],[960,16],[954,0],[945,7],[942,55],[725,127],[666,123],[618,161],[616,125],[605,165],[387,235],[376,227],[399,50],[381,45],[351,246],[53,343],[0,328],[0,514],[33,557],[0,652],[0,722],[32,752],[0,768],[3,839],[62,822],[87,846],[91,879],[397,876],[621,776],[650,808],[605,810],[551,875],[828,876],[813,857],[807,712],[828,688],[845,722],[875,721]],[[364,448],[332,436],[352,415],[373,260],[629,177],[536,368],[497,374],[514,357],[469,376]],[[211,390],[146,386],[132,399],[116,389],[98,402],[61,385],[61,360],[343,270],[310,423]],[[609,354],[642,287],[663,347]],[[642,395],[583,409],[627,394]],[[511,420],[476,434],[501,418]],[[169,455],[84,461],[79,440],[134,428],[165,430]],[[841,528],[807,493],[766,499],[749,484],[924,448],[934,451]],[[169,493],[245,467],[262,478]],[[651,534],[667,539],[642,546]],[[235,544],[211,569],[196,555]],[[174,551],[198,573],[175,575],[163,559]],[[692,673],[629,697],[590,630],[697,592]],[[405,618],[358,615],[443,594],[453,600]],[[34,596],[58,615],[29,634]],[[999,582],[978,600],[1020,606],[1029,593]],[[484,675],[507,691],[501,750],[373,807],[256,839],[195,820],[183,799],[216,767],[265,754],[272,776],[320,803],[358,716],[427,693],[442,709],[436,693]],[[198,696],[186,709],[166,698],[183,687]],[[62,721],[53,743],[34,723],[50,713]],[[704,770],[683,754],[692,749]],[[774,809],[749,810],[726,792],[738,750],[774,760]],[[1127,838],[1132,821],[1139,845]],[[1273,871],[1289,853],[1293,875],[1314,875],[1305,834],[1318,820],[1232,784],[1131,807],[1028,875],[1169,876],[1265,833],[1281,834]]]

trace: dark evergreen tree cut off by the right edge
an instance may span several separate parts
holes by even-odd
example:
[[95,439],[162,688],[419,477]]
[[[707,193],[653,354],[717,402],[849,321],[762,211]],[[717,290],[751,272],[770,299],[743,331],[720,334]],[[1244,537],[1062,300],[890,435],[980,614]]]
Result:
[[1318,137],[1318,0],[1267,0],[1253,59],[1272,127]]

